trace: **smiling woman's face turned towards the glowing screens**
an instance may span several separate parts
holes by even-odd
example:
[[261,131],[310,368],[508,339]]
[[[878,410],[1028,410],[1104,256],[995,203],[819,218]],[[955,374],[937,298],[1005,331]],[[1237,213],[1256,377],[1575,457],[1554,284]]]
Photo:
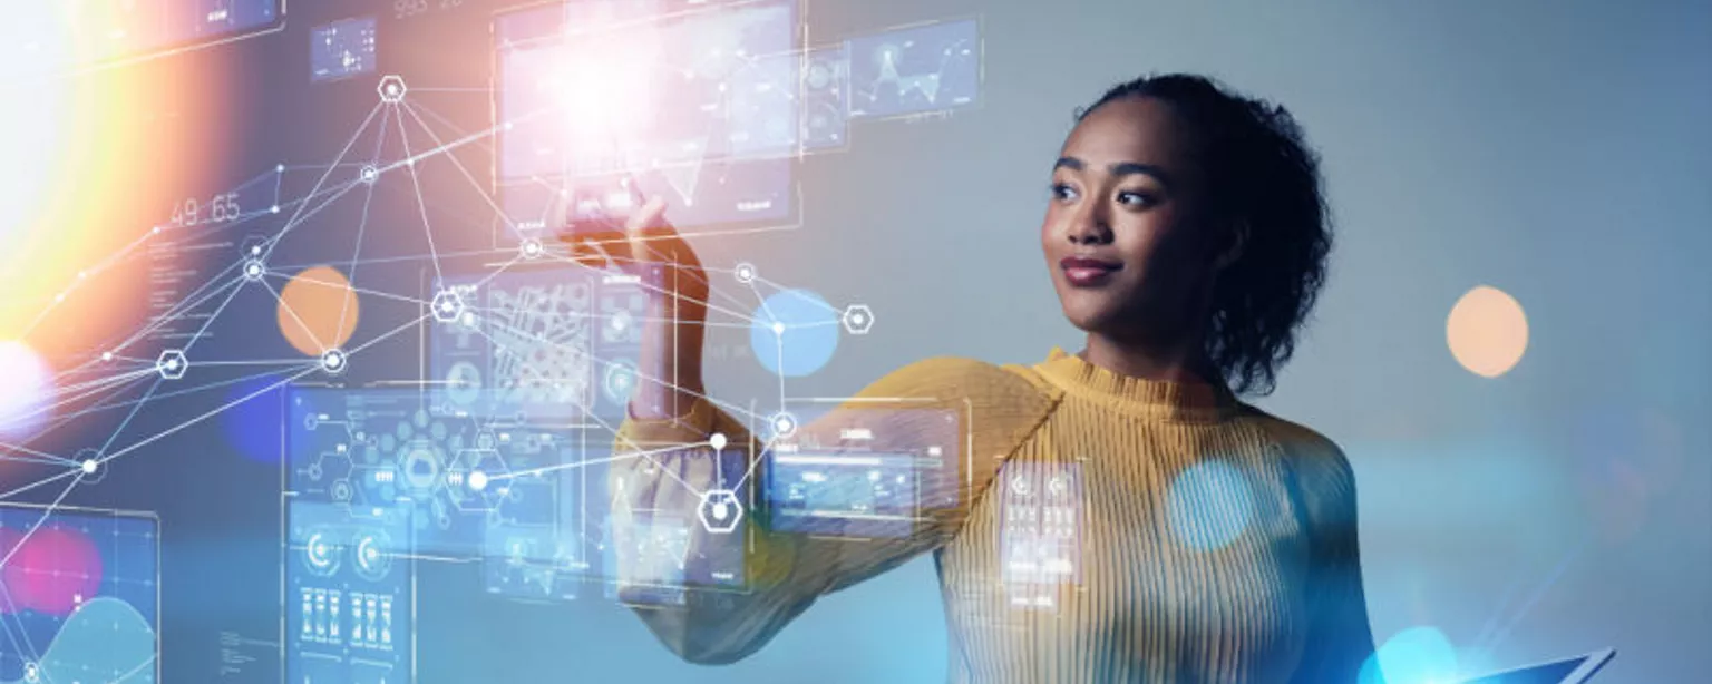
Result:
[[1123,97],[1070,132],[1041,246],[1065,316],[1120,340],[1178,342],[1212,286],[1200,169],[1169,104]]

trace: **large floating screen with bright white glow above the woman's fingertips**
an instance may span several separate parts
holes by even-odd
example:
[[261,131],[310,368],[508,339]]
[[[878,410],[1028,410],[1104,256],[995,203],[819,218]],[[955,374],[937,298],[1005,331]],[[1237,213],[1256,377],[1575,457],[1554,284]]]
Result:
[[794,0],[572,2],[495,21],[496,180],[520,233],[666,197],[680,227],[788,221]]

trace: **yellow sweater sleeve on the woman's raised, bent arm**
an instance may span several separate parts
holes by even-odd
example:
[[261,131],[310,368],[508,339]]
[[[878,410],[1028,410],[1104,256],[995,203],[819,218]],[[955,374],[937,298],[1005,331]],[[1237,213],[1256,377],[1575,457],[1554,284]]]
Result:
[[[916,484],[918,501],[942,504],[923,506],[906,534],[868,539],[854,539],[849,530],[825,520],[808,532],[779,532],[769,525],[767,511],[750,511],[736,532],[745,540],[745,592],[688,600],[685,605],[635,607],[635,612],[666,648],[688,662],[741,660],[767,645],[820,595],[853,587],[950,540],[962,528],[969,506],[993,481],[1000,462],[1046,419],[1051,405],[1051,395],[1014,369],[960,357],[931,357],[904,366],[796,428],[789,441],[818,445],[817,455],[853,450],[853,433],[861,434],[861,450],[866,451],[906,450],[928,436],[935,443],[950,441],[957,453],[945,457],[955,469],[918,472]],[[947,416],[955,416],[948,434]],[[724,434],[728,448],[743,451],[752,472],[745,489],[755,487],[765,465],[757,458],[769,453],[760,445],[750,446],[753,441],[743,421],[705,398],[678,419],[625,421],[615,439],[615,457],[645,453],[647,458],[627,460],[633,465],[613,469],[611,477],[630,477],[633,491],[640,481],[639,467],[649,467],[661,470],[647,484],[657,491],[685,489],[678,487],[678,479],[705,489],[712,482],[710,469],[700,465],[695,450],[680,453],[671,446],[707,443],[712,433]],[[623,491],[623,486],[613,491]],[[746,491],[740,491],[738,498],[760,499]],[[654,494],[652,504],[676,506],[681,515],[693,516],[697,499]],[[692,545],[705,542],[705,530],[692,532]],[[620,598],[623,595],[621,590]]]

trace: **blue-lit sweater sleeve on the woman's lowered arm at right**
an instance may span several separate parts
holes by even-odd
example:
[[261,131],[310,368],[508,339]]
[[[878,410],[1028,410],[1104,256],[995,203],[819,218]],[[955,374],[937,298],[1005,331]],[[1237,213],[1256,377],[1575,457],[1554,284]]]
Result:
[[[1308,636],[1291,677],[1299,684],[1382,684],[1361,581],[1356,477],[1330,439],[1294,426],[1296,477],[1310,522]],[[1303,434],[1305,433],[1305,434]]]

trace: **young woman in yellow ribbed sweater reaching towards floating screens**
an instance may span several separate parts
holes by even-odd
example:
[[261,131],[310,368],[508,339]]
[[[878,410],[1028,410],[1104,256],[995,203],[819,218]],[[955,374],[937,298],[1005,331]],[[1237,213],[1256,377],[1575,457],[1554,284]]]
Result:
[[[769,445],[704,395],[705,275],[661,215],[649,202],[606,250],[680,284],[651,315],[642,356],[659,378],[618,431],[615,450],[637,457],[615,463],[613,506],[695,520],[719,489],[705,446],[753,463]],[[743,658],[817,597],[933,552],[957,682],[1358,679],[1373,638],[1349,463],[1238,398],[1272,390],[1330,251],[1318,162],[1289,113],[1197,75],[1113,87],[1051,164],[1041,250],[1082,351],[919,361],[791,436],[830,446],[863,426],[907,446],[943,414],[865,400],[955,410],[969,451],[919,484],[921,501],[955,487],[955,504],[863,540],[777,532],[752,511],[736,530],[748,593],[637,610],[668,648]],[[1031,508],[1046,487],[1060,506]],[[697,530],[692,547],[719,542]],[[627,549],[620,575],[639,571]]]

